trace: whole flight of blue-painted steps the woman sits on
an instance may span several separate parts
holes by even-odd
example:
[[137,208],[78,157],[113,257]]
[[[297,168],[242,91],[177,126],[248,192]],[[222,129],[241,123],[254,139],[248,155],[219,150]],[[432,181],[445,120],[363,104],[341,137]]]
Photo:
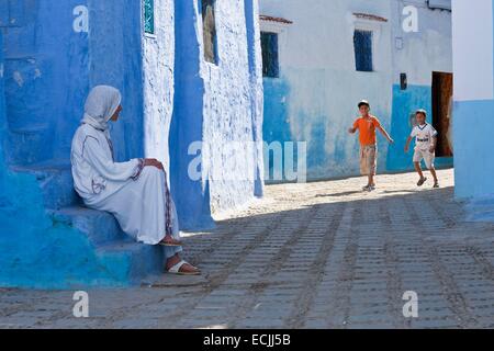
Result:
[[98,276],[102,279],[92,285],[131,286],[162,273],[162,247],[135,242],[113,215],[85,207],[72,190],[69,165],[50,162],[11,169],[36,177],[54,225],[75,228],[88,238],[81,250],[89,249],[99,258]]

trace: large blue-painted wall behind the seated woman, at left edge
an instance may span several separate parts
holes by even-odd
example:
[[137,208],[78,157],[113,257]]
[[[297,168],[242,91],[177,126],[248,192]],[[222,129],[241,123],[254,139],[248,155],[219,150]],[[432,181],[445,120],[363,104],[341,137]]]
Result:
[[[9,3],[2,18],[15,19],[15,25],[1,23],[0,44],[7,56],[4,94],[0,79],[0,154],[7,157],[0,157],[0,286],[127,285],[124,256],[98,253],[87,234],[46,208],[61,200],[74,203],[70,141],[90,87],[108,83],[122,90],[125,112],[112,131],[117,158],[143,155],[139,4]],[[89,34],[72,30],[72,11],[80,4],[90,9]],[[49,177],[40,178],[35,170]]]

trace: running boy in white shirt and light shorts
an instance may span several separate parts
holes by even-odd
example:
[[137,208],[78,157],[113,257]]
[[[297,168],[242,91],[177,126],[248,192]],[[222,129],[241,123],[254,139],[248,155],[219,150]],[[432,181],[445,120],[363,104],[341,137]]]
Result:
[[427,112],[425,110],[418,110],[415,113],[415,116],[417,118],[417,125],[413,128],[412,134],[406,140],[405,152],[408,154],[409,144],[413,138],[415,138],[414,165],[418,176],[420,176],[417,185],[422,186],[427,181],[420,167],[420,162],[424,160],[434,177],[434,188],[439,188],[439,181],[434,167],[434,161],[436,159],[437,131],[430,124],[426,123]]

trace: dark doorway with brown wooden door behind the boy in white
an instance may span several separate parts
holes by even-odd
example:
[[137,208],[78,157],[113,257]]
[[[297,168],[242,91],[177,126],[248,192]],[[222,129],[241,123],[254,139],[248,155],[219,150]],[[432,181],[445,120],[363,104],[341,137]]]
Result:
[[438,157],[452,157],[451,106],[453,76],[433,72],[433,125],[439,133],[436,154]]

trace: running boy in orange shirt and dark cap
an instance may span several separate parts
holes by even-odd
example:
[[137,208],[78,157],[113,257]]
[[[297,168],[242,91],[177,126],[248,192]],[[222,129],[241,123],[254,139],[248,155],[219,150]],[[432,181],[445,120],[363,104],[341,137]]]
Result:
[[363,190],[373,191],[375,190],[374,177],[378,168],[378,141],[375,129],[379,129],[391,144],[393,144],[394,140],[381,126],[379,120],[369,113],[370,104],[368,101],[360,101],[359,110],[361,117],[355,121],[353,126],[348,132],[350,134],[355,134],[359,131],[360,172],[362,176],[367,176],[369,178],[369,182],[366,186],[363,186]]

